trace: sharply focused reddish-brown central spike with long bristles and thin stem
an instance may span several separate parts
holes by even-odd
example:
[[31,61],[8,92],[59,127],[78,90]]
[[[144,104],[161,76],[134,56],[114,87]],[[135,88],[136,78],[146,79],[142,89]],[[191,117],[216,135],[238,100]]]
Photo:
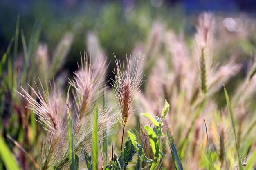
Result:
[[[134,113],[133,104],[135,101],[135,94],[139,91],[139,87],[143,83],[143,79],[141,77],[141,67],[143,63],[142,60],[138,59],[134,62],[132,66],[132,57],[126,58],[125,64],[124,60],[117,60],[117,56],[115,55],[115,62],[117,66],[117,70],[114,71],[115,74],[115,83],[113,84],[115,95],[117,98],[117,103],[119,107],[120,113],[120,123],[123,126],[123,135],[122,135],[122,144],[121,150],[123,147],[123,137],[124,137],[124,127],[129,117]],[[112,79],[114,82],[114,80]]]

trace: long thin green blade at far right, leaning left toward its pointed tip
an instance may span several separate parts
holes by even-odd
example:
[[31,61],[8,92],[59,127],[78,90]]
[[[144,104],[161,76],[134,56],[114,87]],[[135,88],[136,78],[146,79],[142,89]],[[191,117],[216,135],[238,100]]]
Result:
[[231,103],[230,103],[230,100],[229,100],[229,95],[227,94],[227,90],[226,90],[225,87],[224,87],[224,92],[225,92],[227,106],[228,106],[228,109],[229,109],[229,115],[231,117],[233,132],[234,132],[234,135],[235,135],[236,151],[237,151],[237,157],[238,157],[238,166],[239,166],[239,169],[242,170],[243,167],[242,167],[241,157],[240,157],[240,153],[239,153],[238,142],[237,142],[237,138],[236,138],[236,128],[235,128],[235,124],[234,124],[233,111],[232,111]]

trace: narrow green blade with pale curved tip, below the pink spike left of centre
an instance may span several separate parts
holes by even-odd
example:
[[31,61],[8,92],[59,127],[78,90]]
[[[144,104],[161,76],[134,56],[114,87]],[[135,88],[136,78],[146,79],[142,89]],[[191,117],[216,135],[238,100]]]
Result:
[[74,160],[75,155],[74,155],[74,143],[73,143],[73,127],[72,127],[72,119],[71,119],[70,106],[69,106],[69,91],[70,91],[70,86],[67,91],[67,99],[66,99],[69,165],[70,165],[70,170],[76,170],[75,160]]

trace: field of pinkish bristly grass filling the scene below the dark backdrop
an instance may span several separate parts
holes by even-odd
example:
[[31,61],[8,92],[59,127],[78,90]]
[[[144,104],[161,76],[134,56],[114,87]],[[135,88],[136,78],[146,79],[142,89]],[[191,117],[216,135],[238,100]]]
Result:
[[191,18],[189,35],[152,21],[121,57],[87,33],[72,75],[77,35],[48,49],[42,23],[27,36],[18,18],[0,60],[0,170],[256,170],[255,20]]

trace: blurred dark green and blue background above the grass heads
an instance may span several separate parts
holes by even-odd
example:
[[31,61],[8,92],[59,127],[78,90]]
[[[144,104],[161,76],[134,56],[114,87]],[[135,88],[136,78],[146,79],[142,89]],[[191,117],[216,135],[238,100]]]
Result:
[[[217,15],[237,15],[239,12],[254,15],[251,12],[255,7],[253,0],[2,0],[0,56],[11,40],[18,15],[20,28],[27,39],[35,23],[43,24],[40,42],[47,44],[49,53],[65,33],[74,34],[74,42],[64,65],[72,73],[76,69],[76,62],[80,60],[79,53],[88,50],[88,32],[98,36],[103,51],[111,60],[113,53],[124,57],[130,55],[136,45],[145,43],[155,20],[163,22],[166,29],[184,32],[187,40],[195,33],[197,15],[202,11],[214,11]],[[255,42],[254,39],[252,42]],[[18,44],[18,51],[21,51],[20,39]]]

